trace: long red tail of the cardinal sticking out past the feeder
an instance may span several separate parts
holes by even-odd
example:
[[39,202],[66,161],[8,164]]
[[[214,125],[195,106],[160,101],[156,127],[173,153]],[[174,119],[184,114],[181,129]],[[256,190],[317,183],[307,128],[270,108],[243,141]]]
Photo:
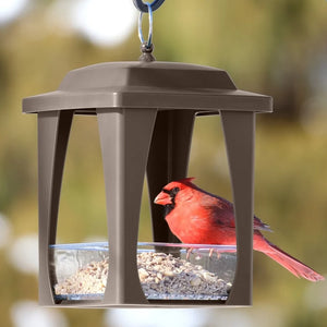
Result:
[[318,280],[324,280],[324,276],[316,272],[308,266],[304,265],[300,261],[295,259],[288,253],[283,252],[280,250],[278,246],[275,244],[270,243],[269,241],[265,240],[267,242],[268,246],[265,246],[266,249],[262,251],[265,253],[267,256],[272,258],[275,262],[280,264],[282,267],[288,269],[290,272],[292,272],[294,276],[298,278],[305,278],[310,281],[318,281]]

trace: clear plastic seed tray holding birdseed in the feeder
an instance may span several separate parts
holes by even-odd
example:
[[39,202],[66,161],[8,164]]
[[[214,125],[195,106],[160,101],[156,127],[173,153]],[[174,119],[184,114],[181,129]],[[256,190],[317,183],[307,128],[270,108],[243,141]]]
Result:
[[[50,246],[56,301],[101,301],[109,271],[107,242]],[[148,300],[228,299],[237,266],[233,245],[138,243],[137,269]]]

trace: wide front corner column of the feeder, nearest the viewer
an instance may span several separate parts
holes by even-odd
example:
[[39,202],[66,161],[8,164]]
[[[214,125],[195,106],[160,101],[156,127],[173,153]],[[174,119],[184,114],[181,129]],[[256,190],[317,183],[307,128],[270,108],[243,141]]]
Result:
[[147,303],[136,253],[142,190],[156,114],[153,109],[97,109],[109,238],[106,304]]

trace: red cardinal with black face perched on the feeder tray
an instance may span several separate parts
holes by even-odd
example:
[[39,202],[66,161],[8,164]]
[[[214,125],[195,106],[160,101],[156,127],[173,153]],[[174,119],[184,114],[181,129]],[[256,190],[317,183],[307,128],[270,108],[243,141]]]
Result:
[[[165,206],[172,233],[183,243],[235,245],[233,205],[227,199],[197,187],[187,178],[167,184],[155,198]],[[253,249],[261,251],[298,278],[311,281],[325,278],[264,238],[261,230],[269,226],[254,216]]]

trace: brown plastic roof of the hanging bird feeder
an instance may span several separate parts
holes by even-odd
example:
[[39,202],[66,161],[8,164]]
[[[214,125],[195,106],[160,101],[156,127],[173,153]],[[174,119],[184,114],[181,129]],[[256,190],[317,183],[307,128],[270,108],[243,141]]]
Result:
[[272,111],[271,97],[237,89],[226,71],[170,62],[108,62],[71,71],[58,90],[24,99],[24,112],[95,108]]

